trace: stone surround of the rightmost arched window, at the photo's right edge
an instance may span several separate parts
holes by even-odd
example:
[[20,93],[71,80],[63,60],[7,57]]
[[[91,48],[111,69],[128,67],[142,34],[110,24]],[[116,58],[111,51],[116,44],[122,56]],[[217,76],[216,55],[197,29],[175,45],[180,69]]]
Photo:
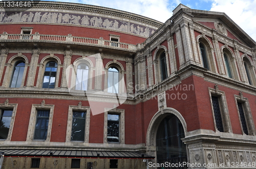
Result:
[[[243,69],[243,76],[244,76],[244,79],[246,80],[246,83],[249,84],[249,79],[248,79],[248,76],[250,77],[250,80],[251,80],[251,84],[250,85],[256,85],[256,74],[255,74],[255,67],[253,66],[253,63],[251,61],[251,59],[248,57],[248,55],[242,55],[242,69]],[[248,70],[246,72],[246,69],[245,69],[245,65],[247,66]],[[248,75],[247,75],[248,73]]]

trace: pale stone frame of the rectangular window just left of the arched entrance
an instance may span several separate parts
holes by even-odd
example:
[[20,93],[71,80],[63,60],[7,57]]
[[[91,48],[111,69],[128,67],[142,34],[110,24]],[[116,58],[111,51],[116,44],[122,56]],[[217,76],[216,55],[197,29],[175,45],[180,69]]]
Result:
[[125,114],[124,109],[104,109],[104,144],[109,144],[108,142],[108,114],[119,115],[119,143],[111,144],[125,144]]

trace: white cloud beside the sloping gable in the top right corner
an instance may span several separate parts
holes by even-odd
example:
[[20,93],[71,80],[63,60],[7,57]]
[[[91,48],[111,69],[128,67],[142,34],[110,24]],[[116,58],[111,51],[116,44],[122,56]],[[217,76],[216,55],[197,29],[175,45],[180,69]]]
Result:
[[225,12],[254,41],[256,40],[256,1],[253,0],[214,0],[211,11]]

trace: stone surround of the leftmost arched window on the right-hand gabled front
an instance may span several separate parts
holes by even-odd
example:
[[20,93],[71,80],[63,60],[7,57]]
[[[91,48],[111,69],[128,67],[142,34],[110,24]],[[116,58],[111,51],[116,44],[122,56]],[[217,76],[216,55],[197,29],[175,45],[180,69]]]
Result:
[[217,73],[218,71],[217,71],[217,65],[216,65],[216,60],[214,55],[214,47],[212,46],[211,42],[203,35],[197,36],[197,47],[198,47],[198,55],[200,56],[199,57],[200,65],[204,67],[202,55],[201,55],[200,43],[205,47],[205,53],[206,53],[209,71]]

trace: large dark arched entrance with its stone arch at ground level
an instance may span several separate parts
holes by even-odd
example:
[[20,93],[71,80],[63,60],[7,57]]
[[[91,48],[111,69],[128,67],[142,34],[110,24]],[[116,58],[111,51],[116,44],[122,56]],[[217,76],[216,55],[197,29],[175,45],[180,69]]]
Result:
[[154,115],[147,128],[147,154],[156,157],[151,163],[163,165],[153,168],[187,168],[185,165],[164,165],[187,162],[187,148],[181,140],[186,132],[186,122],[176,109],[167,107]]

